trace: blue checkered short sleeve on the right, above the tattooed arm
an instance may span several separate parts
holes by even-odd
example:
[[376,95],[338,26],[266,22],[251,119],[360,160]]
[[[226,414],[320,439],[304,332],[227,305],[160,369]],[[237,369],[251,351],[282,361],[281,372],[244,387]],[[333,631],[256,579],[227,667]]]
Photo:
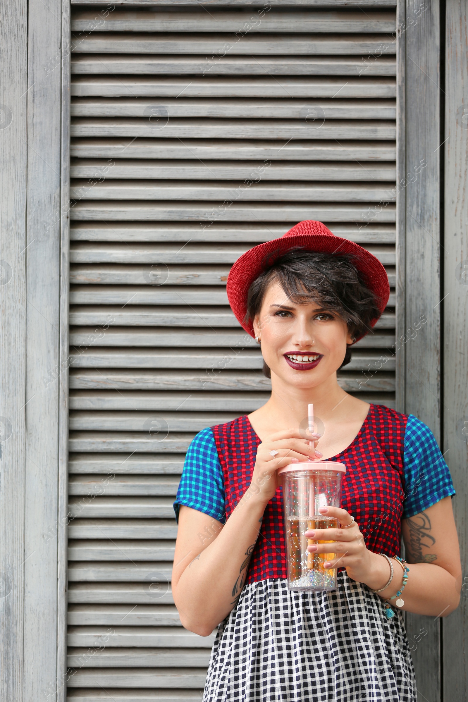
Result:
[[444,497],[455,495],[448,465],[432,431],[412,414],[406,424],[403,466],[403,519],[414,517]]

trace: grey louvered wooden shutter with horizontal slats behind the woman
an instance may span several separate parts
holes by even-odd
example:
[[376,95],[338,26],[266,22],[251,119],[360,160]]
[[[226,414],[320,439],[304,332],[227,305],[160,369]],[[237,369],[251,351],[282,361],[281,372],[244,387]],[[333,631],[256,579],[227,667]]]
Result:
[[227,305],[243,251],[317,219],[382,260],[389,307],[340,383],[394,406],[395,13],[313,4],[73,8],[73,702],[201,698],[172,503],[194,434],[269,395]]

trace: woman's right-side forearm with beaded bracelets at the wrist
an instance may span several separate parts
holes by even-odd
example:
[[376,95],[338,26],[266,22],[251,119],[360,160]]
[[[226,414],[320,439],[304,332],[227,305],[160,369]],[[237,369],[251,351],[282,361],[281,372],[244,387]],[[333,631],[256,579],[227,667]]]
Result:
[[[385,599],[396,595],[403,583],[403,569],[395,559],[392,559],[392,563],[394,567],[392,583],[378,593]],[[407,567],[410,569],[408,581],[401,594],[405,604],[399,609],[437,617],[447,616],[457,608],[460,602],[460,578],[457,580],[448,571],[432,563],[408,563]],[[388,581],[389,575],[387,559],[373,553],[372,567],[365,584],[377,590]],[[395,600],[392,600],[390,605],[394,607]]]

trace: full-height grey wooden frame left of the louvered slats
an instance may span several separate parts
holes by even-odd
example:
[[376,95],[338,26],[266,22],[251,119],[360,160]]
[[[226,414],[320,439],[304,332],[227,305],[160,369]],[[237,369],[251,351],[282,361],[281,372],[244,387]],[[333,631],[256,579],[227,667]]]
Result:
[[[62,144],[68,152],[62,0],[3,4],[0,13],[0,698],[55,701],[60,693],[65,698],[63,569],[58,577],[59,435],[67,427],[61,279],[68,286],[67,245],[62,251],[60,240],[62,197],[68,198],[61,168]],[[68,39],[69,25],[65,32]]]

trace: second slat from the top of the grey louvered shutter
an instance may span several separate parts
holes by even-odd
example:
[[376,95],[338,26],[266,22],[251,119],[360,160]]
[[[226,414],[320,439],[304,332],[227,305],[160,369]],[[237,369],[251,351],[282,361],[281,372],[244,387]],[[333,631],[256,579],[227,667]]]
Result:
[[[72,38],[74,53],[157,53],[204,55],[313,55],[382,54],[382,34],[82,34]],[[395,41],[387,39],[385,54],[395,53]]]

